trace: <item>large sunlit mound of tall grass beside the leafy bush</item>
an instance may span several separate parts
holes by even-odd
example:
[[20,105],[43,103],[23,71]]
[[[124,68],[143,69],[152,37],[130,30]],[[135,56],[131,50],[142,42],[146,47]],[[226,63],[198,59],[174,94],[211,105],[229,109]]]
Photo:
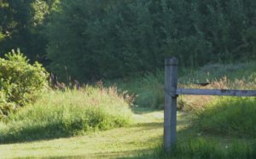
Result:
[[0,142],[51,139],[131,122],[131,109],[116,88],[87,86],[79,90],[49,91],[0,122]]

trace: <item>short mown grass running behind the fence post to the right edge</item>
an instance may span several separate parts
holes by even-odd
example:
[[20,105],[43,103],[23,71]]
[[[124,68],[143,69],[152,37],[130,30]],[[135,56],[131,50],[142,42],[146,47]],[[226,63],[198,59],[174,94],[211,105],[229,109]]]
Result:
[[[177,137],[180,143],[190,139],[205,139],[209,141],[208,144],[214,141],[218,149],[228,150],[233,143],[256,142],[256,139],[204,134],[189,128],[191,118],[187,112],[179,111],[177,116]],[[125,128],[70,138],[0,145],[1,158],[161,158],[161,152],[160,156],[150,154],[158,151],[162,145],[163,111],[138,110],[133,118],[135,122]]]

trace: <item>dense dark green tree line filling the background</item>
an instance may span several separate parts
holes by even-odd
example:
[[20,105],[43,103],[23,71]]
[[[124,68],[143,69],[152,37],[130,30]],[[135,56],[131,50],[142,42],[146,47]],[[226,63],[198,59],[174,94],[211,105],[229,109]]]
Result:
[[62,80],[256,60],[253,0],[0,0],[0,54],[20,48]]

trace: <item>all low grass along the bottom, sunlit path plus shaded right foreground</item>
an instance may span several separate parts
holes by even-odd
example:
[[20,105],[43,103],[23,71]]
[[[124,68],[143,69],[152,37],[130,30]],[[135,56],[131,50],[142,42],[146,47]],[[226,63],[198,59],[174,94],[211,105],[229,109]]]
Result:
[[[61,139],[0,145],[3,158],[250,158],[255,139],[225,138],[190,128],[188,112],[177,113],[177,149],[161,149],[163,111],[139,109],[124,128]],[[201,133],[201,134],[199,134]],[[217,157],[218,156],[218,157]]]

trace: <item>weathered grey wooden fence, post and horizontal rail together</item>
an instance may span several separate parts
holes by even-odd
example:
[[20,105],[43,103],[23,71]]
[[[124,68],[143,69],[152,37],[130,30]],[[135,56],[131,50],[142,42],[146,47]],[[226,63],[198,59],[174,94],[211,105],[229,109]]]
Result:
[[164,149],[166,151],[172,150],[177,142],[177,97],[179,94],[256,97],[256,90],[177,88],[177,64],[176,58],[166,59],[164,113]]

